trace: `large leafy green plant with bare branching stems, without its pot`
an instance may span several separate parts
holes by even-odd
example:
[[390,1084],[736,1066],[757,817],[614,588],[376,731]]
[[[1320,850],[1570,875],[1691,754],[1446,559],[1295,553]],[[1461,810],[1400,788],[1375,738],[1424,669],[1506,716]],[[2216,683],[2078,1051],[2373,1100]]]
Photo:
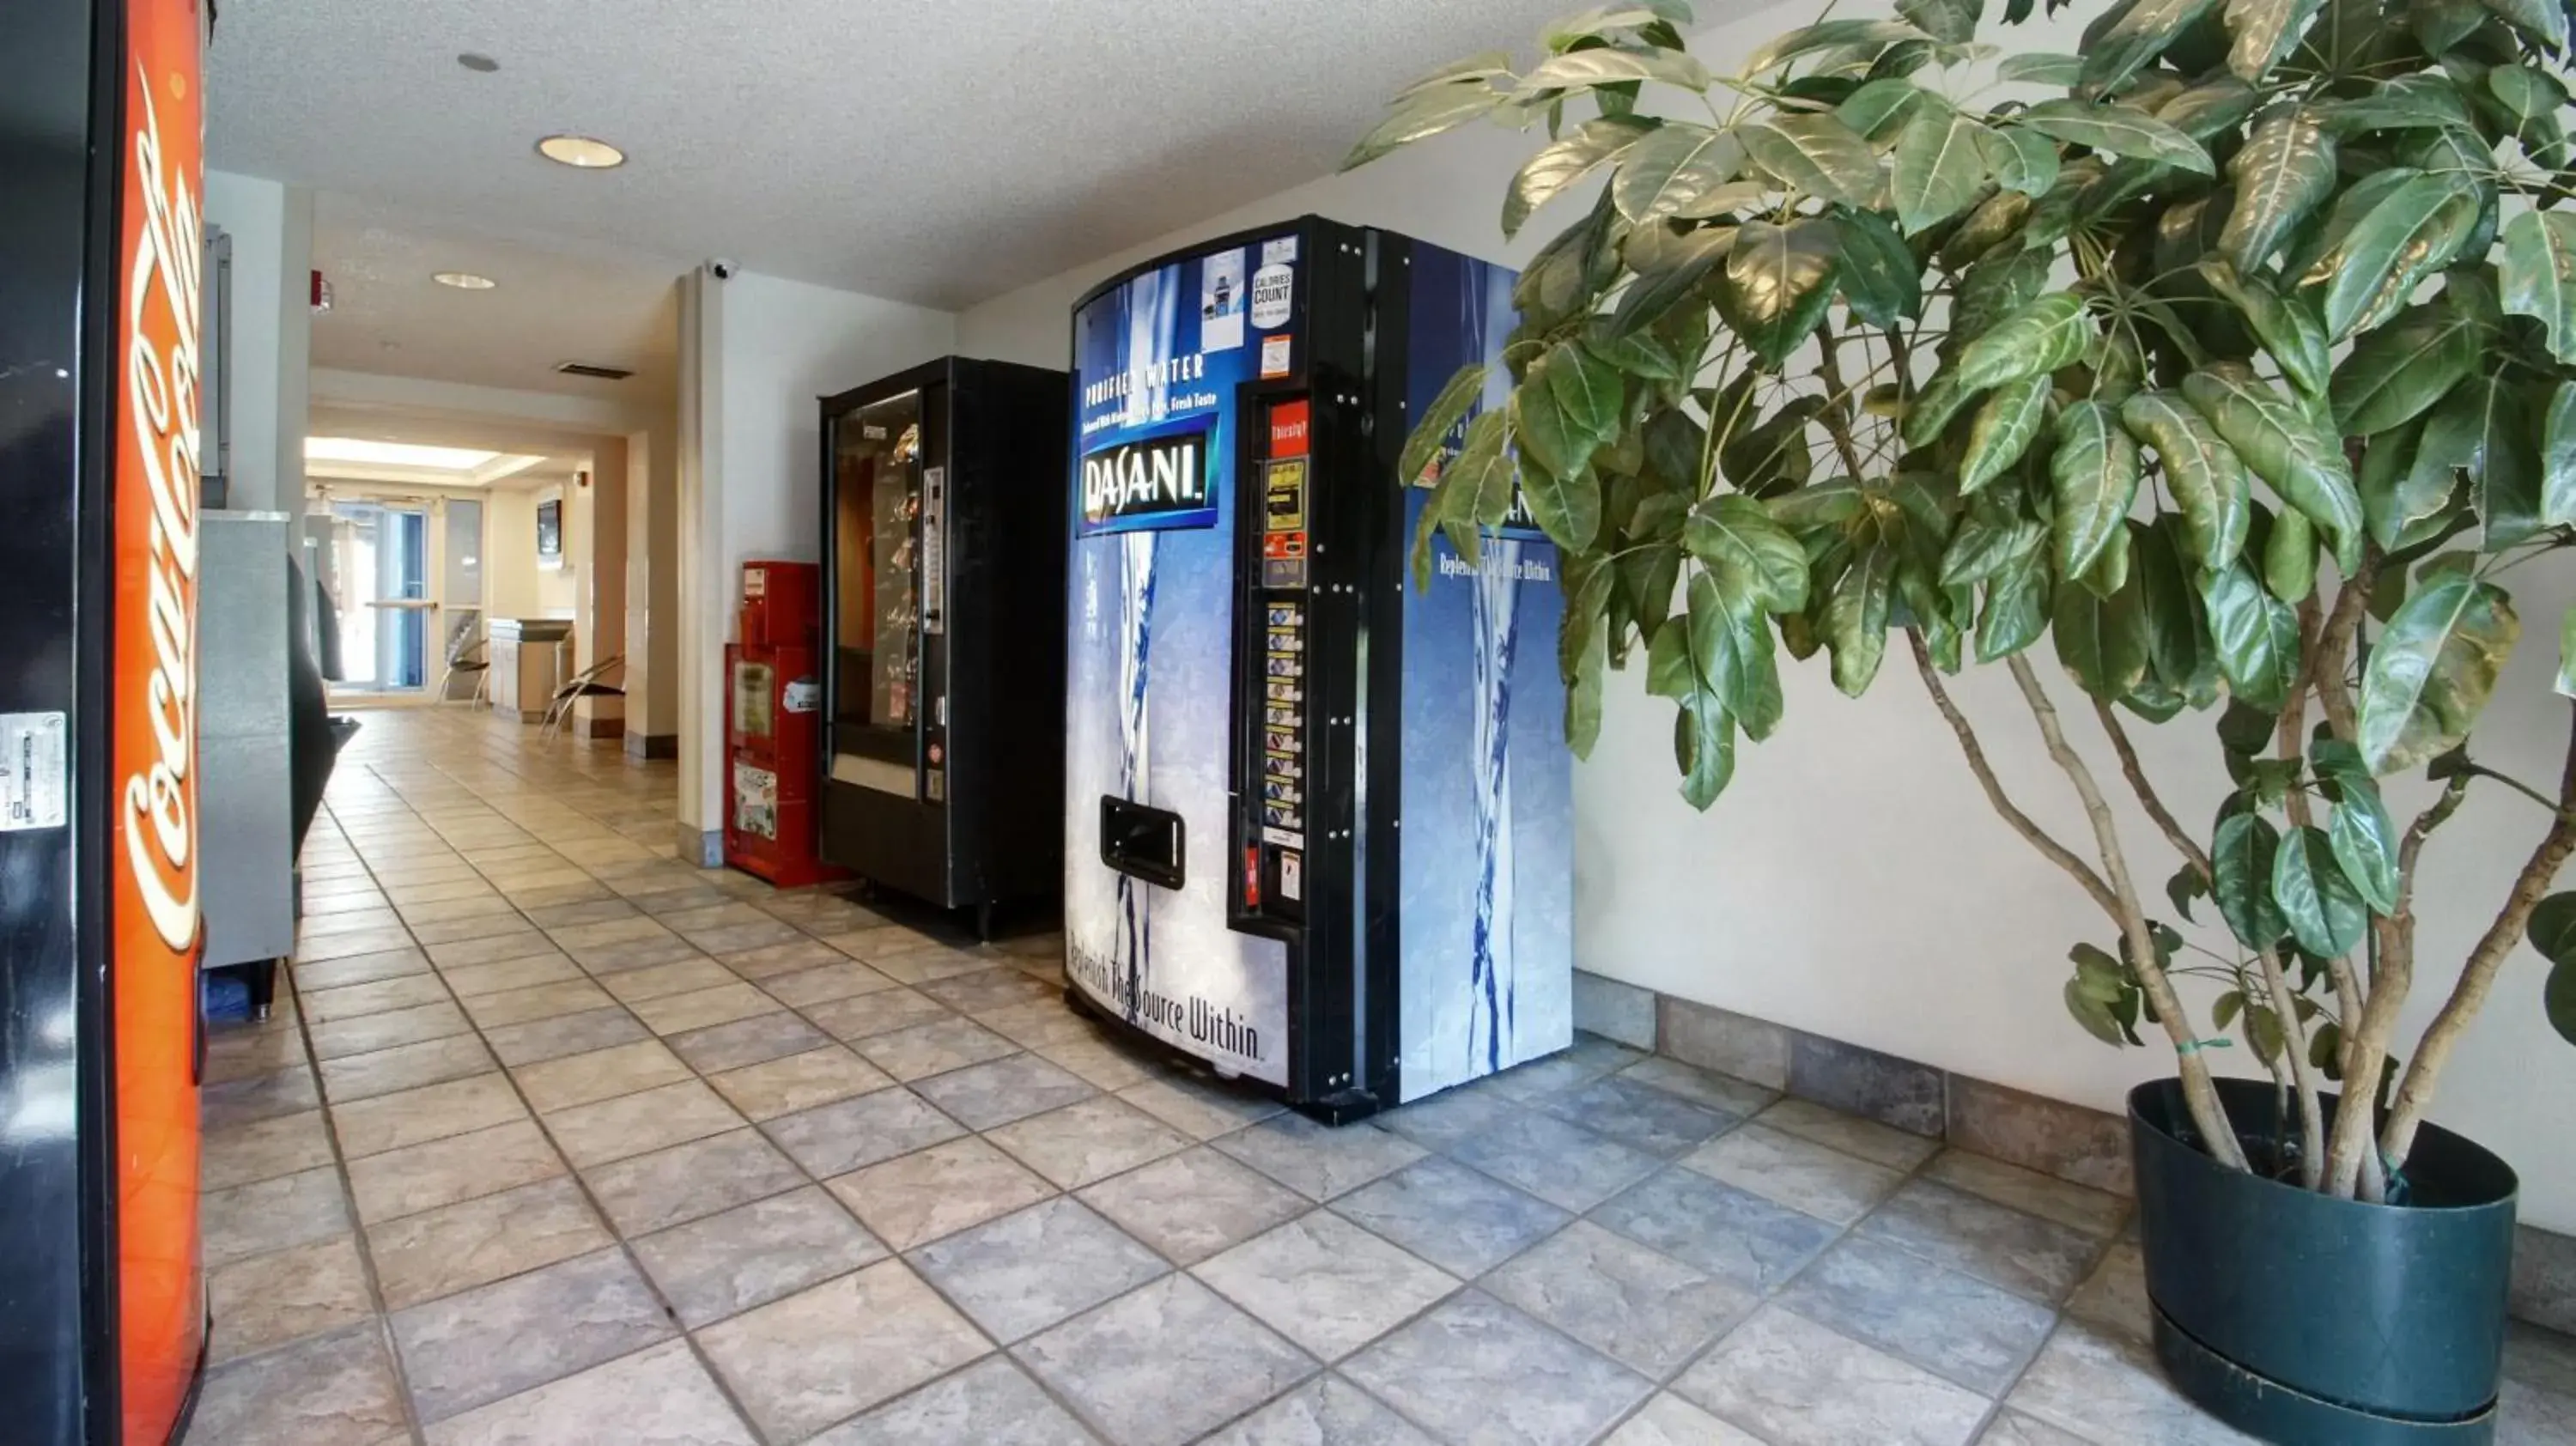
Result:
[[[2566,13],[2120,0],[2081,54],[1996,59],[1976,5],[1826,18],[1716,75],[1687,5],[1643,0],[1558,23],[1525,72],[1481,54],[1394,101],[1347,165],[1468,121],[1546,129],[1507,235],[1597,183],[1520,276],[1510,402],[1468,418],[1471,366],[1404,446],[1432,487],[1417,580],[1435,531],[1473,559],[1525,508],[1564,554],[1571,745],[1605,668],[1643,655],[1703,809],[1736,737],[1783,722],[1780,650],[1829,652],[1857,696],[1901,634],[1986,799],[2115,925],[2071,954],[2074,1018],[2110,1044],[2161,1026],[2221,1162],[2403,1199],[2524,933],[2555,969],[2514,1003],[2576,1039],[2576,894],[2545,897],[2576,732],[2555,789],[2468,753],[2522,626],[2504,577],[2576,541]],[[2182,861],[2172,910],[2215,902],[2221,951],[2138,887],[2043,637]],[[1942,683],[1965,665],[2009,670],[2089,848],[2012,802]],[[2125,719],[2184,709],[2223,709],[2236,781],[2200,830]],[[2403,827],[2391,773],[2439,781]],[[2527,794],[2540,838],[2398,1065],[2416,866],[2473,786]],[[2197,1013],[2192,974],[2223,985]],[[2226,1116],[2205,1049],[2231,1028],[2295,1124]],[[2324,1111],[2321,1077],[2378,1108]]]

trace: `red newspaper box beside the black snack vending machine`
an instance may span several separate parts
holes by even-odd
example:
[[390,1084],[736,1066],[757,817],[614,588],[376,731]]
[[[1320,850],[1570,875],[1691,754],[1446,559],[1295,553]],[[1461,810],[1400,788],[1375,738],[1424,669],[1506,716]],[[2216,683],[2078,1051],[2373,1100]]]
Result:
[[819,583],[811,562],[744,562],[724,650],[724,861],[781,889],[848,876],[814,848]]

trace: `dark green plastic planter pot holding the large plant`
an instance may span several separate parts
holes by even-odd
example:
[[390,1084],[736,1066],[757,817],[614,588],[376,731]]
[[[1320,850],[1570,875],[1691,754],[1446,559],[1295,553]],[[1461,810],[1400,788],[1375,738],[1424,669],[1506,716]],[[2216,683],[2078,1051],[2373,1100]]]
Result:
[[[2275,1090],[2218,1080],[2246,1155],[2269,1160]],[[2326,1095],[2331,1121],[2334,1095]],[[2514,1170],[2427,1124],[2409,1204],[2339,1201],[2226,1170],[2179,1080],[2128,1095],[2156,1356],[2208,1412],[2282,1446],[2494,1441]]]

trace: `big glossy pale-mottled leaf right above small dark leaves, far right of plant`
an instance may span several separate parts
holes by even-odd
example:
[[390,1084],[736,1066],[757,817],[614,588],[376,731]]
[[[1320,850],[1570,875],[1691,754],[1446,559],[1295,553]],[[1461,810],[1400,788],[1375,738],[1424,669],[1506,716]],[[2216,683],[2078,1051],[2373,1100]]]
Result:
[[2468,570],[2424,577],[2362,668],[2360,745],[2372,773],[2452,750],[2486,711],[2522,634],[2514,603]]

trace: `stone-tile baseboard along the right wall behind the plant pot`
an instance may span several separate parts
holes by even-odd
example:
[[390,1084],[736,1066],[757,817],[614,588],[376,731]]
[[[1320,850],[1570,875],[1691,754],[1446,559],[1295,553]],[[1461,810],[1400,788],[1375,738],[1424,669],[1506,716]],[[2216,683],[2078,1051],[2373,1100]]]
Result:
[[[2058,1181],[2138,1193],[2128,1121],[2107,1111],[1582,969],[1574,972],[1574,1028]],[[2576,1235],[2514,1227],[2512,1315],[2576,1333]]]

